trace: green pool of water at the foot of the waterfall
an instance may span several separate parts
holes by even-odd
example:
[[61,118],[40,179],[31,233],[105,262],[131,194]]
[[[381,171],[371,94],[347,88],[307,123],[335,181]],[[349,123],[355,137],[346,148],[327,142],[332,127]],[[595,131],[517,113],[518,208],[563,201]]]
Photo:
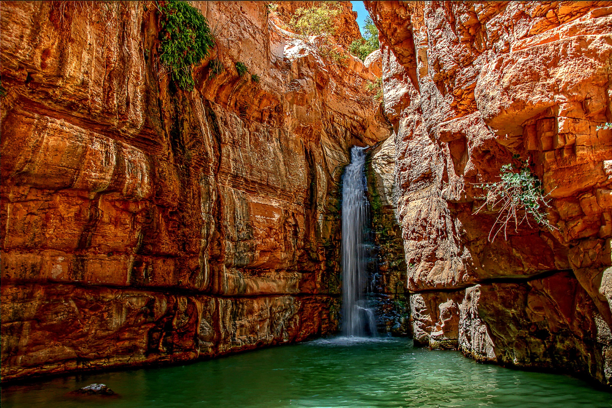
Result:
[[[94,382],[119,398],[66,393]],[[408,339],[319,339],[185,366],[2,390],[2,407],[612,407],[581,380],[482,365]]]

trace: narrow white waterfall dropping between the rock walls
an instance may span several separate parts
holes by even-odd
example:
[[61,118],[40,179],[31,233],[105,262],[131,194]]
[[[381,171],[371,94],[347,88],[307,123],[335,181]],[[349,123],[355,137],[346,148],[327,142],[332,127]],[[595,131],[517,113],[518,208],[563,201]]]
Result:
[[342,334],[376,336],[373,311],[367,307],[365,289],[365,225],[368,201],[365,197],[365,147],[351,149],[342,187]]

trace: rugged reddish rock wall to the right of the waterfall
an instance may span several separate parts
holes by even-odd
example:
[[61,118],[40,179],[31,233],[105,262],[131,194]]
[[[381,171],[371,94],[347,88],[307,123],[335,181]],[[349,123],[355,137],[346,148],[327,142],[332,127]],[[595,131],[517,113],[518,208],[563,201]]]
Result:
[[[612,384],[612,2],[366,1],[415,340]],[[488,240],[474,210],[529,158],[556,228]]]

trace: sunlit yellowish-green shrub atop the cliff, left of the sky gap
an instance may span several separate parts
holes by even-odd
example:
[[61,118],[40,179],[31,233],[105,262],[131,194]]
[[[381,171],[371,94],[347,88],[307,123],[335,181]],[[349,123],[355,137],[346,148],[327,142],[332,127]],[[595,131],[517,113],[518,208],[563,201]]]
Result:
[[304,36],[334,34],[334,20],[338,14],[340,7],[337,7],[336,2],[326,2],[309,9],[300,7],[286,24],[293,32]]

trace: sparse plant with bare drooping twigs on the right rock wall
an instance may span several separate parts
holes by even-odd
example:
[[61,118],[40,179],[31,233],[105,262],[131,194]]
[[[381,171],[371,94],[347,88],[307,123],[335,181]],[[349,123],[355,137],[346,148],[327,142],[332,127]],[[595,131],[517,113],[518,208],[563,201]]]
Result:
[[[529,160],[521,160],[519,155],[514,155],[513,158],[518,160],[520,165],[507,164],[501,167],[499,177],[501,181],[495,183],[477,183],[475,187],[483,188],[487,195],[477,197],[485,199],[485,202],[480,206],[474,214],[477,214],[483,208],[499,212],[491,231],[489,231],[489,241],[493,242],[499,231],[504,230],[504,239],[507,240],[508,224],[514,223],[515,231],[518,230],[518,225],[526,221],[529,224],[529,215],[533,217],[537,224],[554,229],[547,219],[547,213],[542,210],[542,207],[550,207],[549,194],[544,194],[540,180],[535,176],[529,167]],[[493,231],[495,234],[491,238]]]

